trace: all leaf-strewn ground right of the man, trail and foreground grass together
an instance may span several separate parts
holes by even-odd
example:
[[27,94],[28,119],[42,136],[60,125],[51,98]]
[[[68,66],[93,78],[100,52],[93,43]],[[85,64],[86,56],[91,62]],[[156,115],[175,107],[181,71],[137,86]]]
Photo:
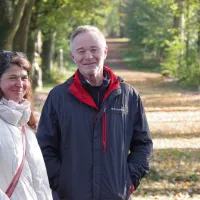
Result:
[[175,87],[159,73],[129,69],[122,56],[128,42],[107,39],[107,45],[105,65],[139,92],[153,137],[151,171],[133,199],[200,199],[200,92]]

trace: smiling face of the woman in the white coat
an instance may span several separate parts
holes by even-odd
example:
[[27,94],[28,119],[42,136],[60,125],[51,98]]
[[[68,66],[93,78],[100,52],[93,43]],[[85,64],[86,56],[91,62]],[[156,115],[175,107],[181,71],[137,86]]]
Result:
[[18,65],[11,65],[0,78],[0,89],[3,97],[17,103],[22,101],[28,85],[28,73]]

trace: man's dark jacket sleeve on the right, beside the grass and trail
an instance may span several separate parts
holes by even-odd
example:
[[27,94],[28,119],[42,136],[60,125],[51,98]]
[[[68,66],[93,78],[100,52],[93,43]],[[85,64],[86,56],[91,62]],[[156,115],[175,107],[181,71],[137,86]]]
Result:
[[142,177],[149,172],[149,162],[153,151],[153,143],[140,96],[134,106],[133,135],[130,143],[128,166],[134,189],[138,187]]

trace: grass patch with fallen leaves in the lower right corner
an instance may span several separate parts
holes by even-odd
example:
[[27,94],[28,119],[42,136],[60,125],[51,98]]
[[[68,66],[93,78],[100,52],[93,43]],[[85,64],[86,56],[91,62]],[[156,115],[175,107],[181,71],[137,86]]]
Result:
[[[200,153],[198,149],[159,149],[154,151],[150,173],[134,193],[134,199],[162,199],[182,194],[180,200],[200,194]],[[155,195],[156,194],[156,195]],[[156,197],[157,196],[157,197]],[[196,198],[195,197],[195,198]],[[198,196],[200,197],[200,196]]]

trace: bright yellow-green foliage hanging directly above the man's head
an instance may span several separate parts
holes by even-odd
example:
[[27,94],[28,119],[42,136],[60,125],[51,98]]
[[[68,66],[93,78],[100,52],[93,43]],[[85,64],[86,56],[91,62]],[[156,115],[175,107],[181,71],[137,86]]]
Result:
[[46,0],[38,1],[35,9],[37,16],[37,26],[43,33],[49,30],[69,33],[77,25],[93,23],[101,25],[101,20],[105,17],[109,1],[88,0],[88,1],[69,1],[69,0]]

